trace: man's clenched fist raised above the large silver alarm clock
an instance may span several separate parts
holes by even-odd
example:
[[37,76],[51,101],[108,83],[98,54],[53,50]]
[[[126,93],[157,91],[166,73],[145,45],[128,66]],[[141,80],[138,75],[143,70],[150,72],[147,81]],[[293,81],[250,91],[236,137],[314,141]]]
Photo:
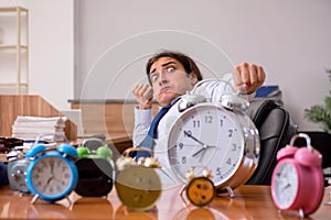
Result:
[[252,94],[260,87],[266,78],[261,66],[255,64],[242,63],[233,69],[233,79],[236,91],[242,94]]

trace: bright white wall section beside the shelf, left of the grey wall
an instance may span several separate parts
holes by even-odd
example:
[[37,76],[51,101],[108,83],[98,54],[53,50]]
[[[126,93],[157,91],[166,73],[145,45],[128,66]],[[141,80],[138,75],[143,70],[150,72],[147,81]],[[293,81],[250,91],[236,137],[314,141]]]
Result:
[[74,0],[1,0],[29,9],[30,94],[68,109],[74,85]]

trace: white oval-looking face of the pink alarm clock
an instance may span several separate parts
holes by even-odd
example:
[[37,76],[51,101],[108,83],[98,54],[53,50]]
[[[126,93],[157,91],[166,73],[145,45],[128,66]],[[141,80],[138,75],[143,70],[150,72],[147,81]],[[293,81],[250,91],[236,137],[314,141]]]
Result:
[[281,163],[276,166],[276,174],[273,180],[274,197],[280,208],[290,207],[298,194],[298,173],[292,163]]

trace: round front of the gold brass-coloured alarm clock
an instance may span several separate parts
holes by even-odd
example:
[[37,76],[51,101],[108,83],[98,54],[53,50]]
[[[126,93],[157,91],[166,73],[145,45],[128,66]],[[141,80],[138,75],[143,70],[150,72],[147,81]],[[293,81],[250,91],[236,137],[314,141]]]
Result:
[[121,170],[115,187],[121,202],[130,209],[151,209],[161,195],[161,180],[153,168],[130,166]]

